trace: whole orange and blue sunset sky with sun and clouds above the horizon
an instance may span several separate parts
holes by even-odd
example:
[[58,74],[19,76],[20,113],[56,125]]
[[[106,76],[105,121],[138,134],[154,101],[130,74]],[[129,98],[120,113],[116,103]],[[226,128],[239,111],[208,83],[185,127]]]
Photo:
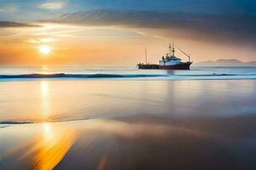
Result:
[[195,62],[251,61],[255,30],[255,0],[0,0],[0,65],[136,66],[170,42]]

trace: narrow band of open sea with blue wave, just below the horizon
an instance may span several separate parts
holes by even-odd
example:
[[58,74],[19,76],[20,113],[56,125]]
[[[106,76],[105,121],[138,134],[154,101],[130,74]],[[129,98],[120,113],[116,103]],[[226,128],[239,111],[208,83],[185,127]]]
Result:
[[239,80],[255,79],[256,67],[192,67],[190,71],[138,70],[84,66],[1,66],[0,81],[35,79]]

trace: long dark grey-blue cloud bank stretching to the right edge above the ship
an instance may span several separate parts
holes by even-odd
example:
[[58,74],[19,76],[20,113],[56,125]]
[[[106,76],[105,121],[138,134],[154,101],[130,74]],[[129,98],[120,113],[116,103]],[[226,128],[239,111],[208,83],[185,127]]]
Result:
[[143,10],[96,9],[63,14],[55,23],[82,26],[125,26],[161,30],[168,35],[204,38],[214,41],[256,42],[256,17],[220,14],[193,14]]

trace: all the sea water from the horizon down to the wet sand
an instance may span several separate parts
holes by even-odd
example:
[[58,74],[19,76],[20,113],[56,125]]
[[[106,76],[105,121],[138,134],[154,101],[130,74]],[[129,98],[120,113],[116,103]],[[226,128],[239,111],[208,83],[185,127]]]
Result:
[[255,79],[253,67],[163,71],[3,66],[0,121],[254,115]]

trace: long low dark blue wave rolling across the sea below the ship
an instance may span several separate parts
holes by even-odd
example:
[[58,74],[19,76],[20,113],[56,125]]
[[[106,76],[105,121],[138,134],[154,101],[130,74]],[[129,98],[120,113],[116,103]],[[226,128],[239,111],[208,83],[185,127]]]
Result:
[[88,78],[138,78],[138,77],[256,77],[256,74],[244,73],[244,74],[20,74],[20,75],[0,75],[0,79],[40,79],[40,78],[76,78],[76,79],[88,79]]

